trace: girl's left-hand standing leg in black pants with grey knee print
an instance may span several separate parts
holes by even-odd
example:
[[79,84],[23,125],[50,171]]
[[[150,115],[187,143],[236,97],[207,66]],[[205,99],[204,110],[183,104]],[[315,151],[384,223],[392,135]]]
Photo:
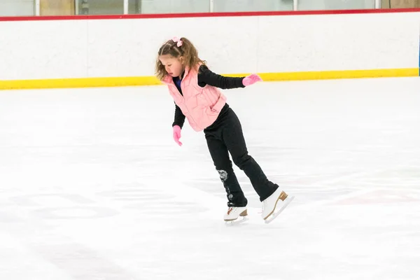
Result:
[[232,169],[228,148],[218,139],[216,132],[205,132],[207,146],[209,147],[214,166],[219,173],[228,197],[228,207],[245,207],[248,201],[245,198],[237,177]]

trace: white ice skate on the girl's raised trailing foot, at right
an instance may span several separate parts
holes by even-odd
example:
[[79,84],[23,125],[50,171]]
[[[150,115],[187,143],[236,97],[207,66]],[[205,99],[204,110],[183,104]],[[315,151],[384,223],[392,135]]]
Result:
[[272,222],[281,211],[283,211],[288,204],[293,200],[295,197],[289,197],[283,190],[278,188],[272,195],[267,197],[266,200],[262,201],[262,218],[264,219],[265,223]]

